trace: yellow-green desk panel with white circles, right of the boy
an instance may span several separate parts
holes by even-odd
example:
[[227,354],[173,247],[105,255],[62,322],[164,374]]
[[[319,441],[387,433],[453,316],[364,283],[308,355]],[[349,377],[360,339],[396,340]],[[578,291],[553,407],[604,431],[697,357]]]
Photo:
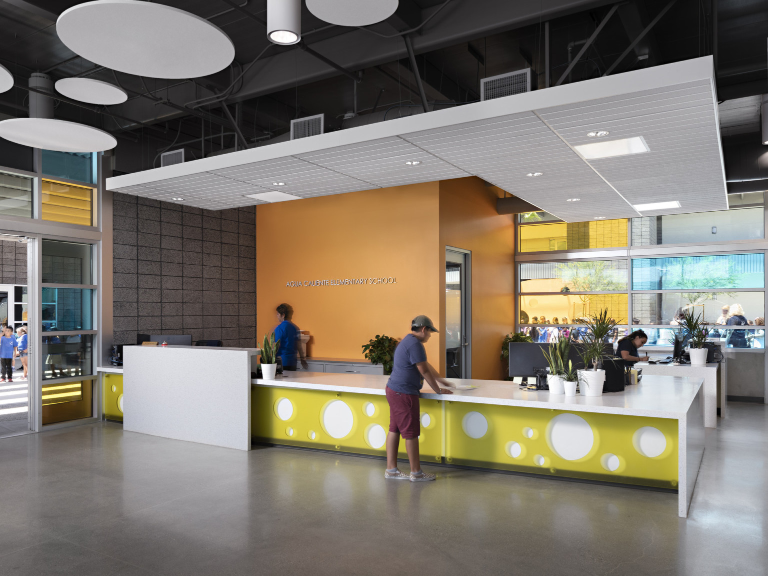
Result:
[[677,489],[677,420],[446,401],[445,461]]

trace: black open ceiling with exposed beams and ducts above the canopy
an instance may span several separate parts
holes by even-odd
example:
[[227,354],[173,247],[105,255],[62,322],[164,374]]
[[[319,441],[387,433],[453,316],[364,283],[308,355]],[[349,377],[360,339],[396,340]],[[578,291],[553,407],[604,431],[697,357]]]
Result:
[[[94,110],[96,107],[60,102],[56,112],[58,118],[96,125],[118,135],[115,155],[121,160],[121,171],[151,168],[157,151],[174,138],[176,145],[187,142],[196,155],[227,150],[234,145],[235,131],[221,106],[192,110],[184,105],[193,99],[190,94],[199,97],[222,91],[242,66],[269,45],[258,22],[266,18],[266,0],[248,0],[245,5],[243,1],[237,0],[242,7],[234,9],[222,0],[164,0],[209,18],[232,39],[236,62],[231,70],[213,77],[167,81],[118,73],[116,79],[112,71],[78,58],[58,40],[55,18],[79,3],[71,0],[0,0],[0,62],[15,74],[20,86],[31,72],[48,72],[54,79],[89,75],[124,85],[131,95],[125,105]],[[379,112],[396,106],[420,108],[405,43],[395,35],[423,22],[443,3],[401,0],[396,16],[370,27],[372,32],[329,26],[305,8],[306,44],[326,51],[333,49],[326,47],[336,46],[336,58],[343,58],[344,67],[362,73],[356,103],[352,79],[310,58],[309,63],[301,61],[301,70],[297,65],[295,74],[288,70],[282,80],[254,74],[236,85],[227,103],[237,128],[253,145],[282,135],[290,119],[298,116],[324,113],[326,129],[333,130],[342,128],[343,115],[355,107],[360,115],[371,112],[374,105]],[[603,75],[669,3],[631,0],[620,4],[564,82]],[[449,0],[442,13],[412,35],[429,102],[439,108],[475,101],[480,78],[519,68],[530,67],[534,88],[545,88],[545,22],[554,84],[568,67],[569,52],[571,57],[579,52],[613,6],[584,0],[542,0],[539,4],[538,11],[525,12],[509,0]],[[474,6],[477,10],[472,10]],[[457,24],[456,19],[465,13],[471,18],[464,17]],[[612,73],[713,54],[720,99],[765,93],[766,30],[765,0],[677,0]],[[285,68],[292,68],[290,62],[299,62],[300,57],[308,58],[296,47],[273,47],[263,58],[267,56],[285,62]],[[25,115],[26,95],[23,88],[0,95],[0,114]],[[391,117],[400,114],[398,109]],[[212,134],[216,135],[213,140]],[[204,147],[200,142],[206,142]]]

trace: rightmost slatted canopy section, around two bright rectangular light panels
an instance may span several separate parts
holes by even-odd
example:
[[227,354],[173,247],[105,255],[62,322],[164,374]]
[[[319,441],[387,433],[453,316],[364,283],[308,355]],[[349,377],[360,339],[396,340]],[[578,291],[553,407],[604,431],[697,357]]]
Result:
[[713,102],[710,82],[696,82],[543,110],[540,115],[571,145],[595,142],[587,135],[595,129],[611,132],[607,139],[642,136],[650,152],[589,161],[631,204],[677,200],[682,209],[675,211],[725,210]]

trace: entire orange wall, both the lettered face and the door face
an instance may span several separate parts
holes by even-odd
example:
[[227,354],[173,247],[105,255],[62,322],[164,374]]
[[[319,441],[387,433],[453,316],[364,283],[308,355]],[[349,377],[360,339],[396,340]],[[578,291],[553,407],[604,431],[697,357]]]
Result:
[[[503,378],[504,335],[514,325],[512,217],[478,178],[259,205],[257,340],[275,308],[313,339],[310,354],[360,358],[377,334],[402,338],[419,314],[445,325],[445,245],[472,251],[472,377]],[[286,287],[290,281],[395,277],[389,285]],[[427,356],[445,374],[445,335]]]

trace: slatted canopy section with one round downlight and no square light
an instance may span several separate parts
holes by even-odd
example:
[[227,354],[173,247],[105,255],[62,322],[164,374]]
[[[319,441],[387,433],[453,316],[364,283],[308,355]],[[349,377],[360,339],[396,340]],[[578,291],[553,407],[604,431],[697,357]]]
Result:
[[[329,148],[299,158],[381,188],[471,175],[399,137]],[[419,165],[406,165],[406,161]]]

